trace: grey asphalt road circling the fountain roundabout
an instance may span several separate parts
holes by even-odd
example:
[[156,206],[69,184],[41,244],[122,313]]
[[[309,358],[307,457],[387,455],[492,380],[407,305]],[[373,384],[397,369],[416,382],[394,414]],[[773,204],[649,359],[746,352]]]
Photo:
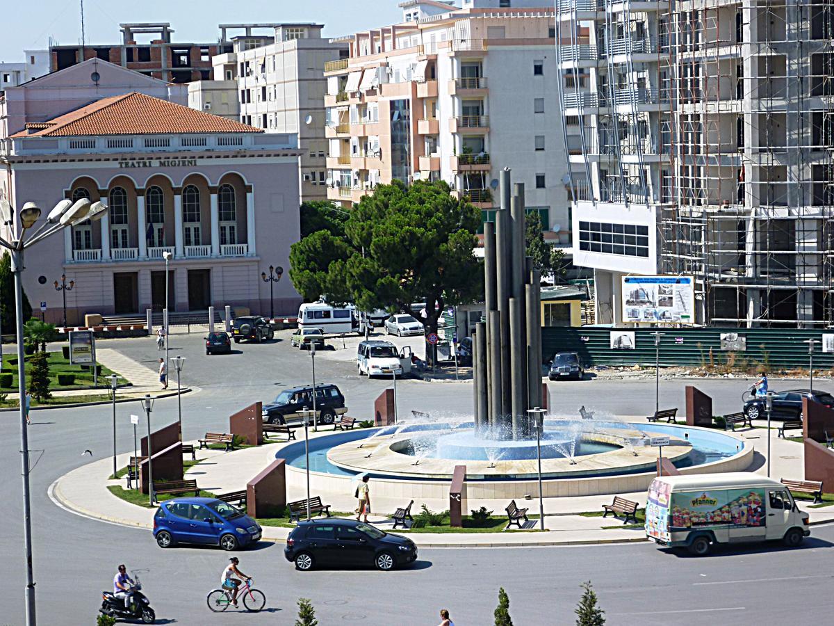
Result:
[[[106,342],[129,356],[158,359],[153,341]],[[103,342],[104,344],[104,342]],[[102,344],[102,345],[103,345]],[[183,396],[186,438],[228,425],[230,412],[274,396],[282,386],[304,381],[309,356],[289,350],[289,343],[242,346],[241,355],[202,354],[200,338],[174,336],[172,354],[188,357],[183,380],[202,391]],[[319,380],[342,388],[351,412],[369,413],[387,381],[355,376],[349,364],[317,357]],[[661,403],[682,403],[680,382],[662,382]],[[716,412],[730,411],[741,390],[737,381],[700,384],[719,398]],[[400,411],[470,411],[471,387],[460,383],[398,384]],[[653,381],[583,381],[552,386],[554,399],[567,407],[585,404],[598,411],[634,415],[651,411]],[[722,407],[726,403],[727,408]],[[732,406],[729,406],[731,405]],[[153,422],[176,418],[176,399],[157,401]],[[126,425],[139,406],[118,407],[118,448],[133,449]],[[279,623],[294,620],[294,602],[312,598],[323,626],[342,622],[433,624],[440,607],[450,608],[458,624],[491,622],[497,589],[510,593],[515,623],[572,623],[579,584],[590,579],[607,611],[609,623],[808,623],[831,608],[831,553],[834,526],[814,529],[800,549],[766,546],[721,552],[694,559],[666,553],[649,544],[564,548],[424,550],[414,568],[394,573],[323,571],[297,573],[284,561],[282,547],[264,543],[242,555],[241,568],[267,594],[270,613],[259,616],[208,613],[204,597],[218,583],[225,553],[209,548],[156,548],[147,531],[84,519],[49,500],[49,485],[63,473],[93,458],[107,457],[111,409],[33,411],[33,517],[35,576],[41,623],[92,623],[98,593],[109,588],[118,563],[145,570],[145,589],[160,623]],[[0,413],[11,435],[0,441],[0,484],[4,503],[0,554],[5,557],[6,603],[0,623],[23,623],[23,534],[20,523],[18,425],[13,413]],[[42,452],[43,451],[43,452]],[[826,559],[826,560],[823,560]],[[435,621],[432,621],[435,620]]]

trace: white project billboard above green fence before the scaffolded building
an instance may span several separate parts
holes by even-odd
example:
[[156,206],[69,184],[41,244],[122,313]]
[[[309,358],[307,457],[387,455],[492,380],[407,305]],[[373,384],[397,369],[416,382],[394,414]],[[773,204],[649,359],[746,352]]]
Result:
[[623,276],[622,321],[695,323],[695,285],[691,276]]

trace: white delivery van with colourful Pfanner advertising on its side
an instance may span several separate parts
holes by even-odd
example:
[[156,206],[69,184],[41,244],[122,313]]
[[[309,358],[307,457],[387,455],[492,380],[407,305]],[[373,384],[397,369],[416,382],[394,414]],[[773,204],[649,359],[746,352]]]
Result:
[[781,482],[750,472],[657,477],[649,486],[646,537],[698,556],[716,543],[781,539],[797,546],[811,534],[808,514]]

